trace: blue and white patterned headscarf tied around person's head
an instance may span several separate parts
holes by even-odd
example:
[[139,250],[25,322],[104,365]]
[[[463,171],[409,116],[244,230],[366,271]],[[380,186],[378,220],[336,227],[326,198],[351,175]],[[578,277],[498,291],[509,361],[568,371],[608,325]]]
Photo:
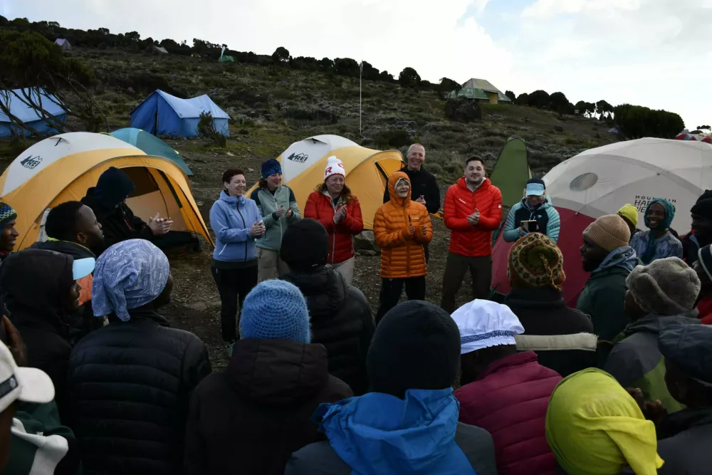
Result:
[[130,320],[128,310],[155,301],[168,282],[170,266],[163,251],[145,239],[130,239],[104,251],[94,270],[94,315],[110,313]]

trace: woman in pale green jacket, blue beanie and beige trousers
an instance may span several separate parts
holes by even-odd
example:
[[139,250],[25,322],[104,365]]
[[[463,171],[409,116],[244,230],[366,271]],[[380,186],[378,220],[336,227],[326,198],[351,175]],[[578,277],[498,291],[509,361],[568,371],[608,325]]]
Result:
[[257,203],[262,213],[265,234],[256,240],[258,280],[277,278],[289,271],[279,257],[282,236],[289,224],[302,219],[294,192],[282,184],[282,167],[274,159],[262,164],[262,178],[259,187],[252,192],[251,199]]

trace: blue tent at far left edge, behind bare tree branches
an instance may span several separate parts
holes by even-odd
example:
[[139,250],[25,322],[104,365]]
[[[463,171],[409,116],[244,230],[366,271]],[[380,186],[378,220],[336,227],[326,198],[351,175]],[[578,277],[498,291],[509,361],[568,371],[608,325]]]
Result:
[[[58,122],[64,123],[67,118],[67,111],[55,102],[57,101],[55,96],[46,93],[44,89],[39,89],[39,93],[35,88],[31,90],[0,90],[0,102],[8,106],[11,115],[19,118],[19,120],[32,127],[41,135],[54,135],[63,132],[63,130],[57,130],[51,123],[44,120],[40,113],[26,105],[25,102],[23,102],[25,100],[23,92],[32,98],[33,103],[40,103],[39,99],[41,98],[42,108],[46,110],[48,114],[56,118]],[[23,100],[20,100],[18,97]],[[19,129],[19,127],[13,125],[12,122],[10,122],[10,118],[0,110],[0,138],[11,137],[13,130],[18,135],[31,135],[30,132]]]

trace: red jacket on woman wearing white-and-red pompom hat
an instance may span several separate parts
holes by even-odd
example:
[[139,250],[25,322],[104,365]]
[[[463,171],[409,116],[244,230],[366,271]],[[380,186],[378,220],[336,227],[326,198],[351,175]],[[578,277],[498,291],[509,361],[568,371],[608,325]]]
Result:
[[346,216],[339,224],[334,224],[334,207],[331,197],[322,192],[311,192],[304,207],[304,217],[312,218],[324,225],[329,233],[328,263],[340,263],[354,256],[353,236],[363,231],[361,205],[357,197],[351,195],[346,205],[340,199],[337,207],[346,206]]

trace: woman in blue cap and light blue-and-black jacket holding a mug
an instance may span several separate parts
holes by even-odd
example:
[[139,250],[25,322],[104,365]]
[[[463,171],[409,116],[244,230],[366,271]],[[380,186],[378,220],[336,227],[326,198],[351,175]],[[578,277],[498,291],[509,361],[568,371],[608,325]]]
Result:
[[534,230],[529,224],[524,226],[522,221],[536,221],[535,231],[546,234],[554,242],[559,240],[559,212],[546,195],[543,179],[530,178],[522,201],[509,210],[504,224],[505,241],[514,242]]

